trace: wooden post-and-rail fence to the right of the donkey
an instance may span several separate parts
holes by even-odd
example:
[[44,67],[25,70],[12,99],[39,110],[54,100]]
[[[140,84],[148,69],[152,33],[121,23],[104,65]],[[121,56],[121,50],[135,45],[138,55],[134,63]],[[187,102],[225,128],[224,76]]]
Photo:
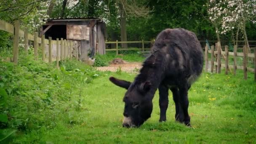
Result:
[[[246,47],[243,46],[243,52],[237,52],[237,45],[234,46],[233,52],[230,52],[228,46],[226,45],[225,50],[222,51],[220,43],[212,45],[211,48],[205,46],[205,71],[214,71],[220,73],[221,67],[225,68],[226,75],[228,72],[232,72],[236,75],[237,69],[243,69],[244,79],[247,79],[247,71],[254,72],[254,80],[256,81],[256,48],[254,48],[254,53],[246,53]],[[208,53],[211,53],[211,60],[208,59]],[[229,56],[233,57],[233,64],[229,64]],[[240,56],[243,58],[243,65],[237,65],[237,57]],[[221,58],[224,59],[224,62],[221,62]],[[253,68],[248,67],[248,59],[253,59]],[[209,65],[210,63],[210,65]],[[223,64],[221,64],[223,63]],[[210,66],[210,67],[209,67]],[[209,69],[210,68],[210,69]]]

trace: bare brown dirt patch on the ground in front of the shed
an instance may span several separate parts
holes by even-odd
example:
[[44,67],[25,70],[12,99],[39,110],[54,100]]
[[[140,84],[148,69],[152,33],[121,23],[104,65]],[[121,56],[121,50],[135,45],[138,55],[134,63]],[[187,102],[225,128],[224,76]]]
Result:
[[141,69],[141,63],[139,62],[125,62],[124,64],[110,64],[107,67],[97,67],[100,71],[110,71],[110,72],[116,72],[117,69],[121,68],[124,72],[139,72],[139,69]]

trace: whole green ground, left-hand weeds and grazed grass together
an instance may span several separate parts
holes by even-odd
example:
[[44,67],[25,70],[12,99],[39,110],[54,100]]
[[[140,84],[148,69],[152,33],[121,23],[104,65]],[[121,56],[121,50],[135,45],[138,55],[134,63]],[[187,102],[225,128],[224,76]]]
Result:
[[[141,58],[142,59],[142,58]],[[167,121],[159,123],[158,91],[151,118],[140,128],[123,128],[125,90],[110,83],[115,76],[132,81],[135,74],[99,72],[78,61],[53,64],[21,59],[16,67],[0,62],[0,92],[6,91],[8,115],[0,123],[15,130],[3,143],[256,143],[256,82],[253,74],[203,72],[189,90],[192,127],[174,120],[169,92]],[[0,93],[0,94],[1,94]],[[1,99],[2,100],[2,99]],[[2,119],[0,119],[2,120]]]

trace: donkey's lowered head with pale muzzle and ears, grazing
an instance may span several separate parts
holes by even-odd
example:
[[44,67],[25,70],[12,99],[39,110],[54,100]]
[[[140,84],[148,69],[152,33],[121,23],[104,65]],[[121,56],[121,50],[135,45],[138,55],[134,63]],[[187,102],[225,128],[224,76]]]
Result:
[[125,109],[123,112],[124,127],[139,127],[150,116],[152,112],[152,99],[147,98],[147,93],[151,89],[151,83],[131,83],[125,80],[118,80],[115,77],[110,77],[109,80],[122,88],[127,89],[123,101]]

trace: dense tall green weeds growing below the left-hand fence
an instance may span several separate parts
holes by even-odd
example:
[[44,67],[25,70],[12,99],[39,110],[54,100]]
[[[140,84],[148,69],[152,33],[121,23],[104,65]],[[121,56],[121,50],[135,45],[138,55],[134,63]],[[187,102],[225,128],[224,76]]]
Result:
[[[64,123],[83,123],[86,85],[101,72],[79,61],[53,64],[34,61],[33,55],[19,56],[19,65],[0,62],[0,140],[14,130],[55,128]],[[4,132],[5,131],[5,132]],[[3,133],[2,133],[3,132]]]

